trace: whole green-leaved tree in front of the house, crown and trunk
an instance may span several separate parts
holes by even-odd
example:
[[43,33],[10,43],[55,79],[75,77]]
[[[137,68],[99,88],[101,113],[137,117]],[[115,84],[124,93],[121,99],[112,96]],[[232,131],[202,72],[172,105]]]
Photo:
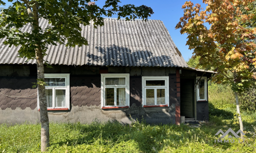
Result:
[[[46,103],[44,60],[49,44],[66,44],[66,46],[88,45],[87,39],[81,36],[80,25],[89,25],[94,21],[94,28],[103,25],[103,15],[111,17],[114,14],[127,20],[147,17],[153,14],[150,7],[144,5],[119,6],[119,0],[105,0],[105,5],[88,5],[90,0],[8,0],[12,6],[3,9],[0,14],[0,38],[7,38],[4,44],[20,45],[19,57],[36,59],[37,88],[41,122],[41,151],[49,147],[49,119]],[[97,1],[97,0],[96,0]],[[5,5],[0,0],[0,4]],[[41,29],[40,18],[47,19],[51,26]],[[31,32],[24,32],[24,25],[30,25]]]

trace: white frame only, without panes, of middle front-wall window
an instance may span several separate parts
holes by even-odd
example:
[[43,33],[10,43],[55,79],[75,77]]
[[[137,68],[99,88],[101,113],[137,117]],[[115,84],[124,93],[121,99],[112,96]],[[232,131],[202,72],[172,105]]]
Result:
[[[125,78],[125,85],[105,85],[106,78]],[[105,105],[105,88],[111,87],[114,88],[114,106],[106,106]],[[126,105],[117,106],[117,87],[125,88],[126,93]],[[130,107],[130,74],[128,73],[111,73],[111,74],[101,74],[101,108],[108,107]]]

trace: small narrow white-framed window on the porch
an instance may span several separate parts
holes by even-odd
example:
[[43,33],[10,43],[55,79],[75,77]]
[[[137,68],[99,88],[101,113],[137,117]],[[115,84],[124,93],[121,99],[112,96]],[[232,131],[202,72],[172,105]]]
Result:
[[197,100],[207,100],[207,77],[199,79],[197,77]]

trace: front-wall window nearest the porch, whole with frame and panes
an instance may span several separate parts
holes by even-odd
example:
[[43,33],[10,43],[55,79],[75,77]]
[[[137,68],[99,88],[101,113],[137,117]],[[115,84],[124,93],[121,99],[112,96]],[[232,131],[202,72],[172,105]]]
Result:
[[168,105],[169,77],[142,77],[142,105]]

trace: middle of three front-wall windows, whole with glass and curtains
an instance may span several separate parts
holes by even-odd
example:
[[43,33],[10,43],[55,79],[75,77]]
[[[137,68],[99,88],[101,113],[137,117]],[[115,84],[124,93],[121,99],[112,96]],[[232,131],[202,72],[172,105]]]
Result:
[[101,74],[101,107],[129,107],[130,74]]

